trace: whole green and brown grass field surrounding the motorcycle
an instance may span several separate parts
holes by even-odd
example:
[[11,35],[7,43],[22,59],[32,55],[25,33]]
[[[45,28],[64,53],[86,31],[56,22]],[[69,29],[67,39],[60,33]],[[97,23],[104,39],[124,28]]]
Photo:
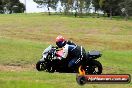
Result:
[[[41,53],[55,38],[99,50],[103,74],[132,74],[132,20],[74,18],[45,14],[0,15],[0,88],[82,88],[76,74],[35,69]],[[88,84],[83,88],[132,88],[130,84]]]

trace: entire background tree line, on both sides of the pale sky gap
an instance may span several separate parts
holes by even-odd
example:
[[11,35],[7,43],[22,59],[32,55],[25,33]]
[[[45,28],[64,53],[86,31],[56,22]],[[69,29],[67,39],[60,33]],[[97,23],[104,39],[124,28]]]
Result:
[[[65,15],[73,14],[74,16],[88,15],[91,6],[94,7],[94,13],[99,11],[104,16],[124,16],[126,19],[132,16],[132,0],[33,0],[40,6],[47,7],[49,15],[50,8],[57,10],[58,2],[63,7]],[[23,13],[25,5],[19,0],[0,0],[0,13]],[[60,9],[60,12],[62,10]]]

